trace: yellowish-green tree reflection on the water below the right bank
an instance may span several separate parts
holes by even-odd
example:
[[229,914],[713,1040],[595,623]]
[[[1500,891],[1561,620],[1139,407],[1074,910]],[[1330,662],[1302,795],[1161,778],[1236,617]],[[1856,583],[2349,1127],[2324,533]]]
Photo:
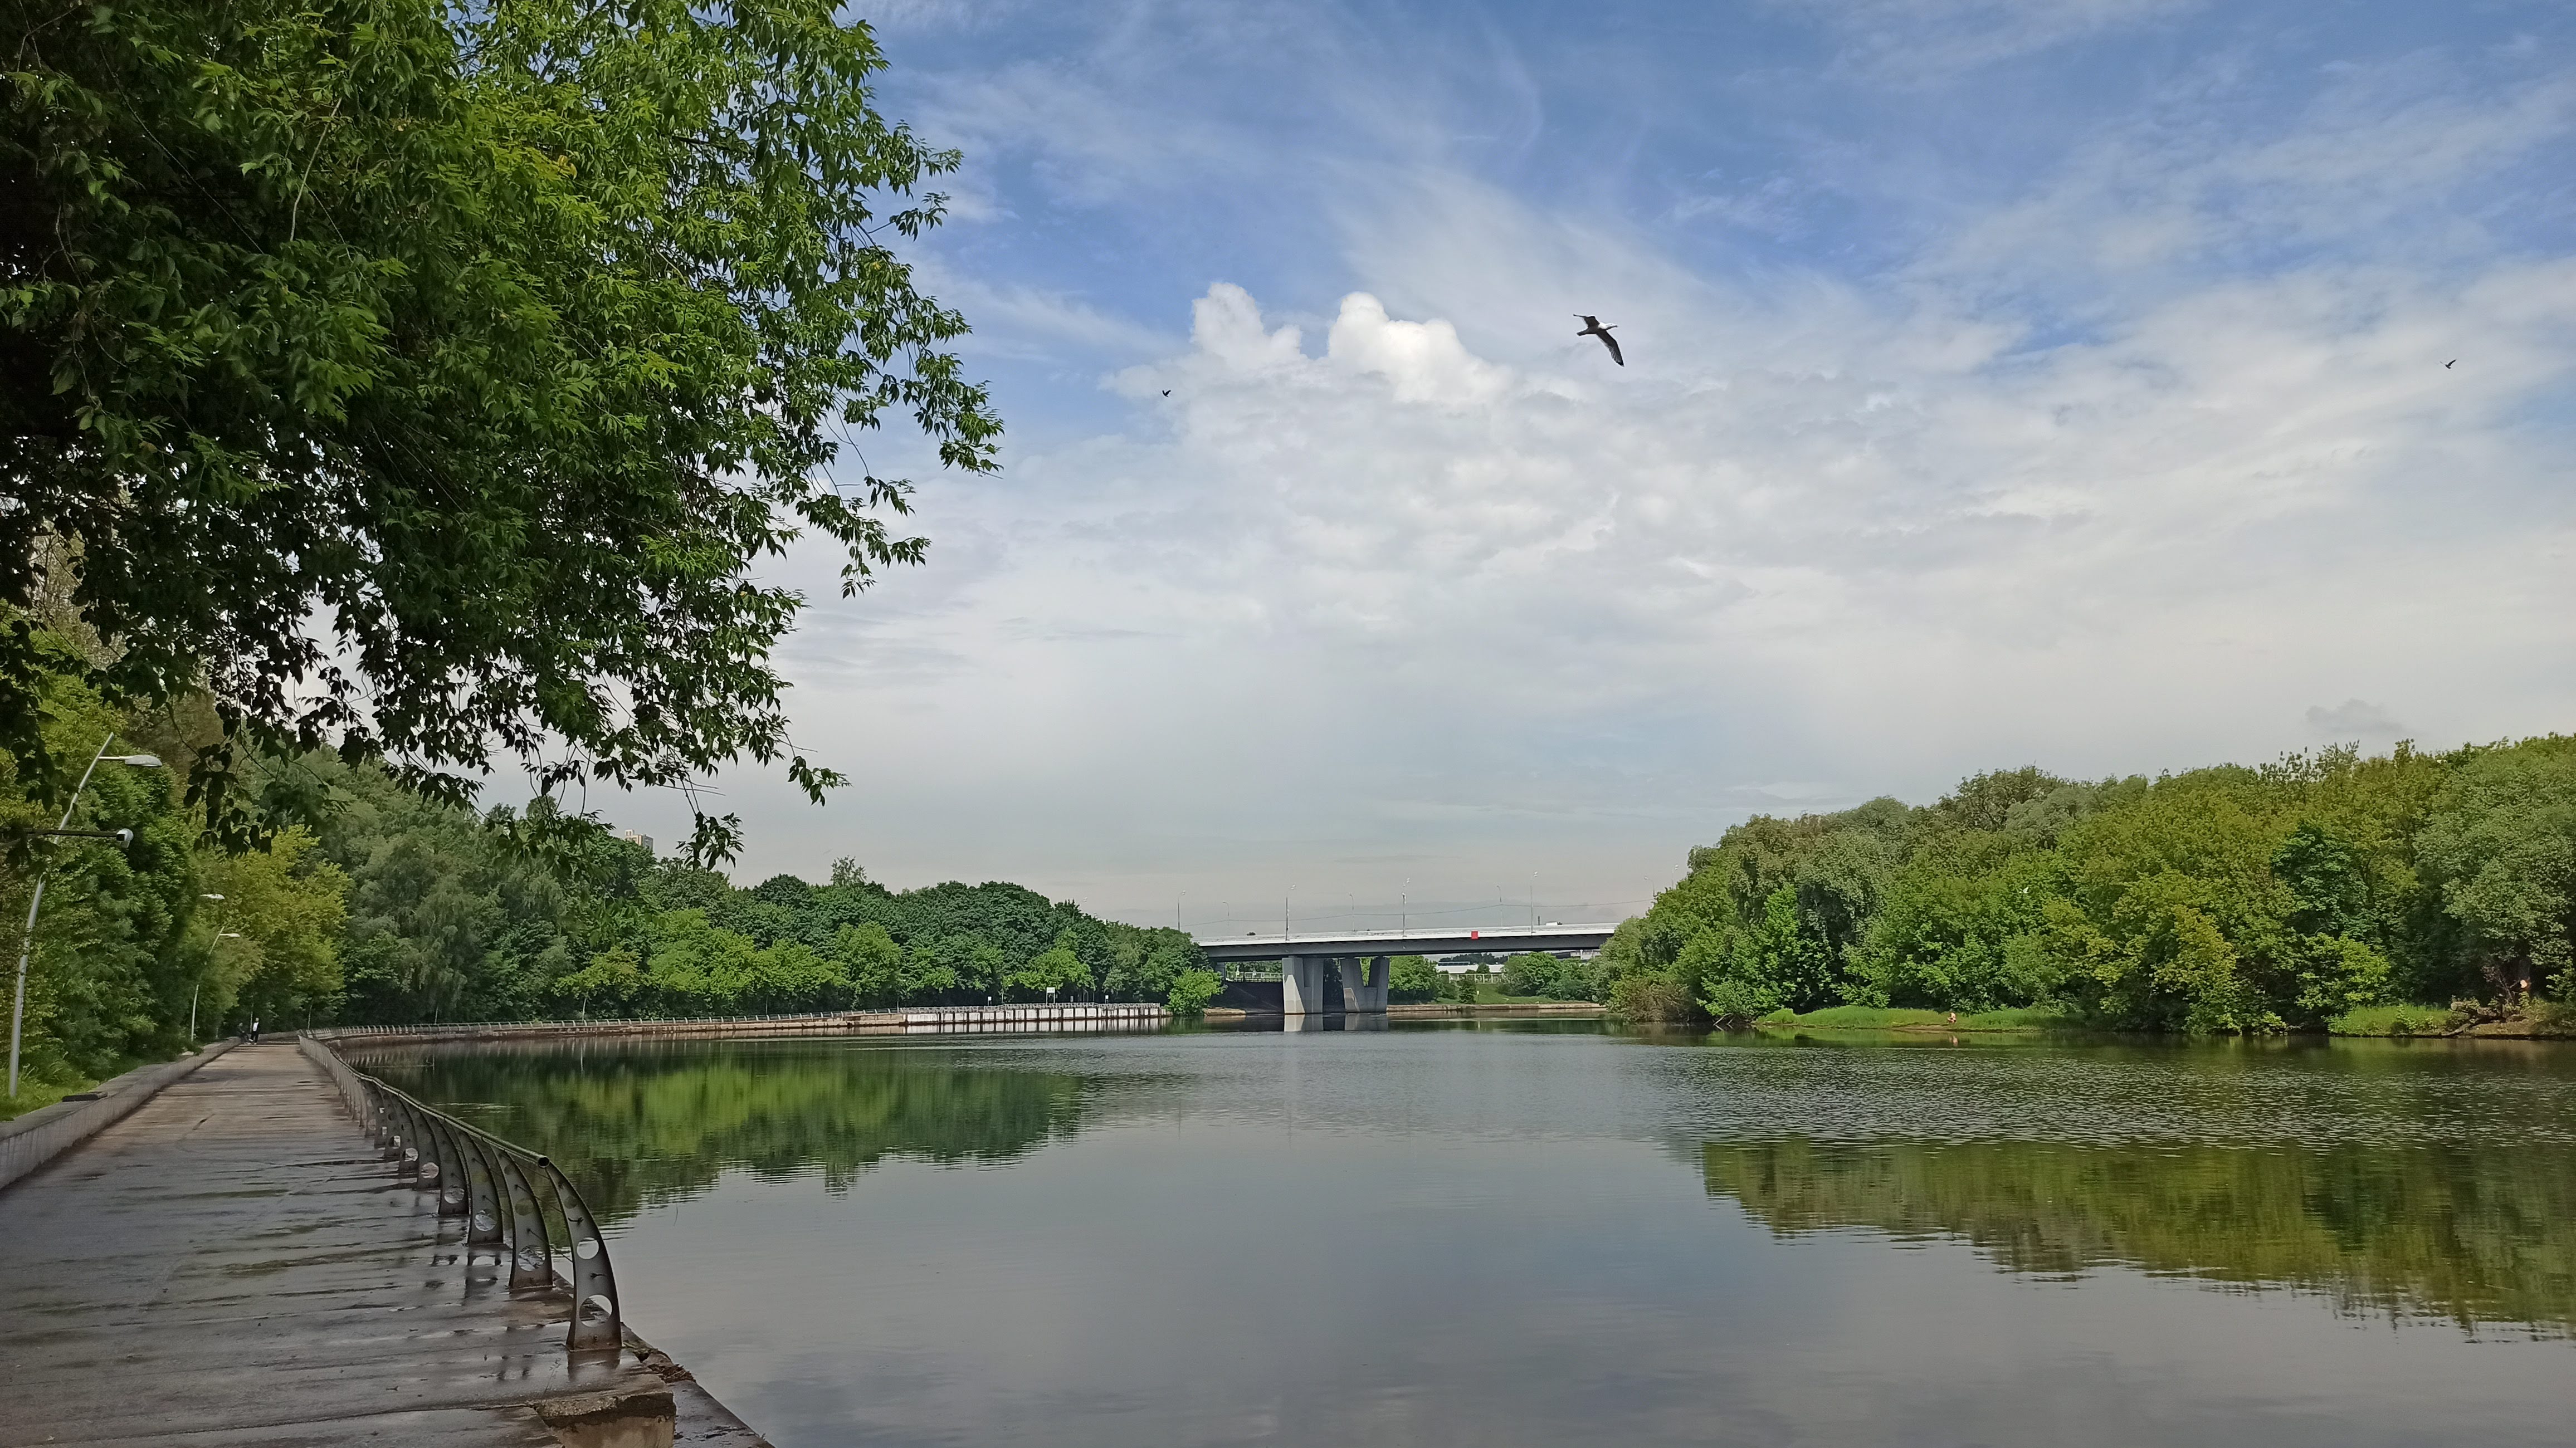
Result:
[[2017,1273],[2125,1265],[2339,1311],[2576,1329],[2563,1149],[1710,1141],[1708,1193],[1772,1232],[1960,1237]]

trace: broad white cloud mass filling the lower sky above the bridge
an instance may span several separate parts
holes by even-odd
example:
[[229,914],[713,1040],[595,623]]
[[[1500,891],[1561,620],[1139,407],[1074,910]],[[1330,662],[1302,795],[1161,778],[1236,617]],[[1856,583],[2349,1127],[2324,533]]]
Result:
[[[873,631],[866,688],[811,680],[799,737],[907,760],[866,799],[909,858],[1121,904],[1370,889],[1327,845],[1430,850],[1461,897],[1571,853],[1615,899],[1749,809],[2262,757],[2360,672],[2432,737],[2563,719],[2568,505],[2468,520],[2555,466],[2504,423],[2566,379],[2576,268],[2354,286],[2009,361],[1826,296],[1842,368],[1610,371],[1365,294],[1316,356],[1218,283],[1115,381],[1131,433],[933,500],[945,603]],[[2434,314],[2530,361],[2416,366]]]

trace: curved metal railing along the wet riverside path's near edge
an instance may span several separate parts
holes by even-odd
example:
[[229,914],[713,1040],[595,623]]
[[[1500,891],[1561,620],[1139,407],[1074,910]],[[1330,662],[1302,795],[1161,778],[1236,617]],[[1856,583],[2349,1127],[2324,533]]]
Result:
[[[384,1159],[394,1162],[394,1175],[438,1193],[438,1216],[466,1219],[469,1260],[474,1247],[492,1247],[510,1265],[513,1288],[569,1288],[567,1345],[574,1353],[623,1342],[626,1314],[618,1309],[616,1273],[608,1270],[608,1239],[562,1167],[358,1072],[327,1041],[307,1033],[296,1043],[340,1087],[340,1100],[384,1149]],[[551,1221],[538,1188],[551,1198]],[[554,1232],[556,1224],[562,1234]],[[556,1239],[569,1260],[562,1278],[554,1273]]]

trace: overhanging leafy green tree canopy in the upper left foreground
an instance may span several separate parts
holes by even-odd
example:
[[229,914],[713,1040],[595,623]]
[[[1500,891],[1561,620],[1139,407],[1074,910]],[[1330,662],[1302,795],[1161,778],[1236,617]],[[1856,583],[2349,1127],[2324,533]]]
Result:
[[[0,0],[0,747],[41,675],[206,691],[188,801],[234,843],[332,745],[464,801],[796,752],[768,654],[799,531],[914,562],[909,417],[999,423],[896,237],[956,152],[886,121],[827,0]],[[67,605],[103,649],[49,649]],[[265,760],[265,763],[263,763]],[[698,814],[693,853],[726,855]]]

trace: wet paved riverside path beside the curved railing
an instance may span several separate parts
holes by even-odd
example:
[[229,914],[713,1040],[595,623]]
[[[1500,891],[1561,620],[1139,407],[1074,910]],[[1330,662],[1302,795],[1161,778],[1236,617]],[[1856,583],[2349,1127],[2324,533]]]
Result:
[[528,1404],[662,1389],[569,1309],[469,1283],[322,1072],[237,1046],[0,1190],[0,1448],[551,1448]]

